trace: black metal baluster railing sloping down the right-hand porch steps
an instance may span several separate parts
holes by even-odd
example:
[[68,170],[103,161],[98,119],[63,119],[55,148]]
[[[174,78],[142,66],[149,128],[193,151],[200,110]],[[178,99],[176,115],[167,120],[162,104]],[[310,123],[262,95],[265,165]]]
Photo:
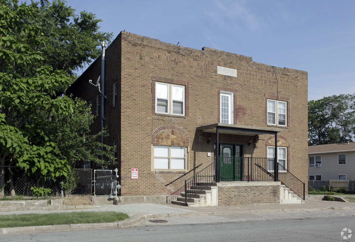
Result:
[[290,188],[296,195],[303,200],[305,199],[305,183],[290,173],[285,167],[279,163],[279,181],[286,187]]

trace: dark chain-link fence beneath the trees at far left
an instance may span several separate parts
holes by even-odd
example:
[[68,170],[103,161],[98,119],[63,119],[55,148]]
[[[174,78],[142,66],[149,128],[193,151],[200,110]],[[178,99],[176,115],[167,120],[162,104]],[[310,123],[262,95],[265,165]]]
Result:
[[30,177],[26,171],[18,167],[1,166],[4,169],[5,184],[0,187],[1,196],[34,196],[31,187],[50,188],[50,196],[60,196],[61,188],[53,179],[44,181],[43,177]]

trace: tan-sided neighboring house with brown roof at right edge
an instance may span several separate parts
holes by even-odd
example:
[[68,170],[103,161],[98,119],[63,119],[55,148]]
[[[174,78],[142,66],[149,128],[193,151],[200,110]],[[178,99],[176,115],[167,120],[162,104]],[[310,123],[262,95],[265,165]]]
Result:
[[308,146],[309,180],[355,180],[355,142]]

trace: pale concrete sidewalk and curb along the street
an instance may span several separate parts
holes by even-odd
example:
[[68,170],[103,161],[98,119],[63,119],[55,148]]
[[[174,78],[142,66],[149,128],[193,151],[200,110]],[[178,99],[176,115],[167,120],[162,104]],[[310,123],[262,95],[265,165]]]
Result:
[[201,216],[201,215],[224,215],[224,214],[250,214],[250,213],[272,213],[291,211],[316,211],[316,210],[351,210],[355,209],[355,203],[331,202],[331,201],[307,201],[305,204],[263,204],[243,206],[213,206],[213,207],[182,207],[175,204],[122,204],[102,205],[100,208],[83,210],[40,210],[40,211],[13,211],[1,212],[5,214],[28,214],[28,213],[62,213],[80,211],[115,211],[124,212],[131,218],[116,223],[100,224],[73,224],[73,225],[51,225],[51,226],[30,226],[17,228],[0,229],[0,235],[40,232],[60,232],[75,230],[110,229],[140,226],[140,221],[151,218],[166,218],[172,216]]

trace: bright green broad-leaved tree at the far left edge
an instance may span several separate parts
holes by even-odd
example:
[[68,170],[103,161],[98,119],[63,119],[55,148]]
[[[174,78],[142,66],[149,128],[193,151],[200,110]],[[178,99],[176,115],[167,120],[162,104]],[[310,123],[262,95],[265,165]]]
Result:
[[[73,113],[86,113],[87,119],[92,120],[87,111],[82,112],[82,103],[81,109],[77,109],[79,102],[60,95],[71,83],[68,72],[44,65],[41,50],[51,42],[37,24],[38,10],[33,5],[18,5],[15,0],[0,0],[0,187],[4,186],[5,164],[17,165],[28,175],[42,177],[44,181],[65,177],[75,152],[66,154],[66,146],[53,135],[54,131],[68,134],[70,131],[65,129],[72,128],[73,134],[84,137],[81,131],[87,129],[76,130],[65,125],[62,130],[50,128],[54,129],[53,122],[68,122]],[[76,145],[80,146],[80,142]],[[87,150],[93,149],[86,145]]]

